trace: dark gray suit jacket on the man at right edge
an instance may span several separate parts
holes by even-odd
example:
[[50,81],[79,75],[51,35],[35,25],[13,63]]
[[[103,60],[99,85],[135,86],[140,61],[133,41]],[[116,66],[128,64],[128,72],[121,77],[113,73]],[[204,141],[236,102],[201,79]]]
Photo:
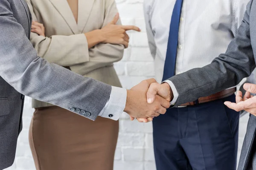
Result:
[[[244,20],[236,37],[230,42],[225,54],[221,54],[211,64],[203,68],[195,68],[169,79],[179,94],[176,105],[195,101],[199,97],[208,96],[237,85],[241,79],[250,76],[256,67],[255,54],[256,0],[251,0],[247,5]],[[250,160],[251,145],[256,132],[255,119],[255,116],[250,116],[239,161],[239,170],[245,170]]]

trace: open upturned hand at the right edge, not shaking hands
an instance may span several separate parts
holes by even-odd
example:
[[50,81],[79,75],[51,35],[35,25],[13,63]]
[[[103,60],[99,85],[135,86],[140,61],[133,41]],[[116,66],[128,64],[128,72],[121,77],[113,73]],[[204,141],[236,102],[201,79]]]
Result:
[[238,91],[236,94],[236,103],[224,102],[224,104],[235,111],[245,110],[254,116],[256,116],[256,96],[251,96],[250,93],[256,93],[256,85],[246,83],[244,84],[244,90],[246,93],[244,97],[242,92]]

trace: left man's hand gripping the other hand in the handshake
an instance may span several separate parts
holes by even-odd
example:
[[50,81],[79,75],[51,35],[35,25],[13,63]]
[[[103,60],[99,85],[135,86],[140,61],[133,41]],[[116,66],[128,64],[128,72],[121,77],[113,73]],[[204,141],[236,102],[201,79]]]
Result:
[[127,91],[125,112],[131,117],[152,118],[166,113],[166,108],[170,107],[170,102],[163,97],[156,95],[154,102],[147,103],[146,93],[151,83],[156,83],[155,79],[147,79]]

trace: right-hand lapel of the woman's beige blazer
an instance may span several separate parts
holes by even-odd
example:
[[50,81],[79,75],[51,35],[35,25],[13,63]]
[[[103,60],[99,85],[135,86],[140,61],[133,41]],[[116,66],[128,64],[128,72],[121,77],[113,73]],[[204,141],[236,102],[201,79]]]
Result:
[[78,0],[78,29],[81,34],[84,31],[87,20],[93,8],[94,0]]

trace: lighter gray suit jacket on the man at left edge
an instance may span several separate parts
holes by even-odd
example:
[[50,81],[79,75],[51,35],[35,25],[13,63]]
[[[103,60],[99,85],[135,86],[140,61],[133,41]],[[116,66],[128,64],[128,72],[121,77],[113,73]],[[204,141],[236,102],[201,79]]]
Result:
[[87,113],[78,114],[94,120],[111,93],[111,85],[38,57],[29,41],[30,27],[31,15],[24,0],[0,0],[1,170],[11,166],[15,158],[22,121],[21,94],[71,111],[79,108]]

